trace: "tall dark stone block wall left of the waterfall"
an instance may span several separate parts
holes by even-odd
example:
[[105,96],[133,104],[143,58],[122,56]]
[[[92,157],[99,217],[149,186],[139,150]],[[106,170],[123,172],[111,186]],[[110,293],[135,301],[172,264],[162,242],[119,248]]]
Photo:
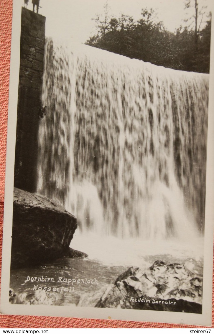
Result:
[[45,17],[22,8],[14,186],[36,191]]

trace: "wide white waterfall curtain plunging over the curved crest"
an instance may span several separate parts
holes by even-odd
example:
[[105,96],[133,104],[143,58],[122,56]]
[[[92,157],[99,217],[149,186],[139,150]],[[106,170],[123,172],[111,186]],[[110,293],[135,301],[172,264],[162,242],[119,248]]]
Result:
[[203,233],[209,75],[46,40],[38,192],[80,232]]

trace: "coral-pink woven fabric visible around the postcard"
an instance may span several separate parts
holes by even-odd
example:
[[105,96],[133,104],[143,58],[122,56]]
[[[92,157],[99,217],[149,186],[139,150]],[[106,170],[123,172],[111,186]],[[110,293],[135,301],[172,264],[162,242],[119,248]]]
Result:
[[[12,0],[0,0],[0,266],[4,210],[4,182],[7,140]],[[214,278],[213,278],[214,282]],[[213,289],[214,297],[214,289]],[[62,317],[11,316],[0,314],[0,328],[192,328],[164,323],[77,319]],[[199,328],[197,326],[197,328]],[[214,328],[214,298],[212,327]]]

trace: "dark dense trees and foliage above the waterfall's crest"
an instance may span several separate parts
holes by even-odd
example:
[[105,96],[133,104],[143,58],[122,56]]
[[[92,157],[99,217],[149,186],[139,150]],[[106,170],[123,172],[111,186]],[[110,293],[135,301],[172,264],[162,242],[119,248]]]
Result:
[[192,28],[180,27],[172,33],[158,22],[152,9],[143,9],[139,21],[123,14],[110,18],[108,4],[104,9],[103,19],[99,15],[95,18],[97,32],[87,45],[156,65],[209,73],[211,15],[202,30],[196,20]]

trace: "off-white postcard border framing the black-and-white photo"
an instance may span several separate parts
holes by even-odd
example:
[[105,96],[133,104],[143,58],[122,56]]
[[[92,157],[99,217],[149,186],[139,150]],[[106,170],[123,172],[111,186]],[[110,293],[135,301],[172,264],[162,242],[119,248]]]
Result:
[[[13,177],[15,157],[16,114],[19,79],[19,52],[21,27],[21,0],[13,2],[6,178],[5,178],[5,206],[3,226],[3,253],[1,278],[0,312],[3,314],[58,316],[78,318],[121,319],[133,321],[191,324],[197,326],[211,326],[212,316],[212,261],[213,261],[213,222],[214,222],[214,24],[212,22],[211,65],[209,87],[209,115],[208,115],[208,148],[207,148],[207,180],[206,180],[206,214],[205,214],[205,249],[204,249],[204,277],[202,314],[147,311],[147,310],[118,310],[91,307],[42,306],[10,304],[8,298],[10,282],[10,256],[12,235],[13,208]],[[214,6],[213,6],[214,7]],[[214,12],[214,11],[213,11]]]

